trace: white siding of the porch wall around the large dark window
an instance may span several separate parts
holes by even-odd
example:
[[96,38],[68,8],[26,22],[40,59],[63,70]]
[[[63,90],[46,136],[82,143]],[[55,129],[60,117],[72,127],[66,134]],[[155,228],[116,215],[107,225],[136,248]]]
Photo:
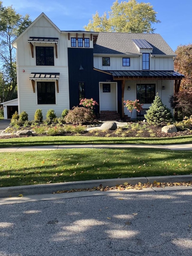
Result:
[[[137,84],[155,84],[155,91],[158,92],[159,97],[161,98],[161,101],[163,104],[170,108],[169,98],[171,95],[173,95],[173,81],[172,80],[150,80],[150,81],[126,81],[125,83],[125,90],[124,90],[124,100],[131,100],[134,101],[137,99]],[[128,86],[130,86],[131,90],[128,90]],[[165,86],[165,89],[162,90],[162,86]],[[151,104],[144,104],[143,108],[148,109],[151,106]],[[125,115],[128,115],[128,117],[131,116],[131,113],[129,110],[124,107],[124,113]],[[172,110],[173,113],[173,110]],[[137,111],[133,110],[131,118],[137,118]]]

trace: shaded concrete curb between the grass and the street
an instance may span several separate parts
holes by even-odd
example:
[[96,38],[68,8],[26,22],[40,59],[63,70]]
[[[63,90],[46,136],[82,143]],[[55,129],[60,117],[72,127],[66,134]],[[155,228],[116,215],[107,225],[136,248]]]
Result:
[[154,181],[157,182],[189,182],[192,181],[192,175],[177,175],[177,176],[155,176],[155,177],[135,177],[135,178],[123,178],[123,179],[100,179],[100,180],[86,180],[86,181],[74,181],[64,183],[52,183],[52,184],[39,184],[39,185],[25,185],[15,187],[0,188],[0,197],[11,197],[22,194],[23,196],[35,195],[35,194],[49,194],[56,191],[71,190],[71,189],[84,189],[102,186],[113,187],[121,185],[124,182],[128,182],[131,185],[138,184],[138,182],[147,183]]

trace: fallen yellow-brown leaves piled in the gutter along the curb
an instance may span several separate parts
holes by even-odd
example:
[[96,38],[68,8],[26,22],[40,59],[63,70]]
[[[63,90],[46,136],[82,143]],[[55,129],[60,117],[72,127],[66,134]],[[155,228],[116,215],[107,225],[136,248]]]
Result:
[[[165,187],[173,187],[173,186],[192,186],[192,181],[190,182],[167,182],[167,183],[163,183],[163,182],[157,182],[154,181],[153,183],[144,183],[142,184],[141,182],[138,182],[138,184],[136,185],[130,185],[127,184],[125,185],[127,182],[124,182],[124,185],[116,185],[114,187],[104,187],[101,185],[99,185],[98,187],[94,187],[94,188],[79,188],[79,189],[71,189],[71,190],[61,190],[61,191],[57,191],[57,192],[52,192],[52,194],[61,194],[61,193],[71,193],[71,192],[79,192],[79,191],[109,191],[109,190],[126,190],[126,189],[136,189],[136,190],[140,190],[143,188],[165,188]],[[122,199],[119,199],[122,200]],[[136,214],[135,214],[136,215]]]

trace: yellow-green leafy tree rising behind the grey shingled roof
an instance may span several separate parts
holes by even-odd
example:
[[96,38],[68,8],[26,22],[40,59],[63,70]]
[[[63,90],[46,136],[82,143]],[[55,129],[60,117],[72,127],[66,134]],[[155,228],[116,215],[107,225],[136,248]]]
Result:
[[101,17],[98,12],[92,15],[87,26],[87,31],[96,32],[131,32],[131,33],[154,33],[154,23],[160,23],[156,19],[153,6],[150,3],[138,3],[136,0],[116,0],[111,6],[111,11],[104,13]]

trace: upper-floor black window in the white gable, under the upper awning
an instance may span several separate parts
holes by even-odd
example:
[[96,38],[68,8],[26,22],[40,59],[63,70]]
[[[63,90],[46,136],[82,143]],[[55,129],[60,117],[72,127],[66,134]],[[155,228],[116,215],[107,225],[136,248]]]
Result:
[[54,47],[36,46],[36,65],[54,66]]

